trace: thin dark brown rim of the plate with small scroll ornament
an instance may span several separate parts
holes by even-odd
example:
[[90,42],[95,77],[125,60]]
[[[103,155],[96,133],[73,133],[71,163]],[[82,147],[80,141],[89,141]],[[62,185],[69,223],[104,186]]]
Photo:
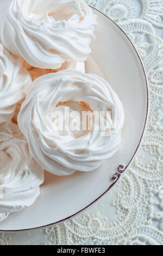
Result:
[[117,181],[121,178],[122,174],[124,173],[125,170],[127,170],[130,166],[130,164],[133,162],[135,156],[136,156],[136,153],[137,153],[137,150],[140,148],[140,145],[142,143],[142,139],[143,139],[143,136],[145,135],[145,130],[146,130],[146,126],[147,126],[147,121],[148,121],[148,114],[149,114],[149,87],[148,87],[148,77],[147,77],[147,74],[146,74],[146,70],[145,70],[145,67],[142,63],[142,59],[140,57],[140,54],[137,52],[136,50],[136,47],[134,46],[133,42],[130,40],[129,36],[126,34],[126,32],[123,31],[123,29],[117,25],[117,23],[115,21],[113,21],[110,17],[108,17],[106,14],[104,14],[102,11],[96,9],[95,7],[92,7],[91,5],[89,5],[90,8],[98,11],[99,13],[101,13],[102,15],[104,15],[107,19],[109,19],[111,22],[114,23],[114,25],[116,25],[116,27],[118,29],[120,29],[120,31],[126,36],[126,38],[129,40],[130,44],[131,44],[131,47],[134,48],[134,51],[136,52],[137,54],[137,57],[139,58],[139,61],[140,61],[140,64],[141,64],[141,67],[142,67],[142,70],[143,70],[143,74],[145,76],[145,81],[146,81],[146,93],[147,93],[147,106],[146,106],[146,118],[145,118],[145,124],[143,126],[143,131],[142,131],[142,134],[141,134],[141,137],[140,137],[140,141],[136,147],[136,150],[133,154],[133,156],[131,157],[129,163],[127,164],[126,167],[124,167],[122,164],[120,164],[118,166],[118,169],[117,169],[117,172],[112,176],[112,184],[109,186],[109,188],[107,190],[105,190],[98,198],[96,198],[95,200],[93,200],[90,204],[88,204],[87,206],[85,206],[82,210],[79,210],[77,211],[76,213],[74,213],[73,215],[71,216],[68,216],[62,220],[59,220],[57,222],[54,222],[54,223],[50,223],[50,224],[46,224],[46,225],[42,225],[42,226],[39,226],[39,227],[35,227],[35,228],[27,228],[27,229],[17,229],[17,230],[1,230],[2,232],[18,232],[18,231],[28,231],[28,230],[35,230],[35,229],[41,229],[41,228],[46,228],[46,227],[51,227],[52,225],[56,225],[56,224],[59,224],[61,222],[64,222],[64,221],[67,221],[71,218],[73,218],[74,216],[77,216],[78,214],[80,214],[81,212],[83,212],[84,210],[86,210],[87,208],[89,208],[92,204],[96,203],[100,198],[102,198],[104,196],[104,194],[106,194],[116,183]]

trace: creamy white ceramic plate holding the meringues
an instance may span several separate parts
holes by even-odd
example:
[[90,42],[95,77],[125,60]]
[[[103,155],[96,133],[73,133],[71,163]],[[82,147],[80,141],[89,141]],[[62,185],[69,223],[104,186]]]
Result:
[[[148,113],[145,71],[127,35],[108,17],[96,9],[93,11],[98,16],[98,27],[86,70],[106,78],[123,103],[126,120],[121,147],[93,172],[76,172],[64,177],[46,172],[40,197],[34,205],[11,214],[0,223],[0,230],[33,229],[76,215],[110,190],[120,178],[121,169],[128,168],[139,148]],[[124,168],[118,168],[120,164]]]

